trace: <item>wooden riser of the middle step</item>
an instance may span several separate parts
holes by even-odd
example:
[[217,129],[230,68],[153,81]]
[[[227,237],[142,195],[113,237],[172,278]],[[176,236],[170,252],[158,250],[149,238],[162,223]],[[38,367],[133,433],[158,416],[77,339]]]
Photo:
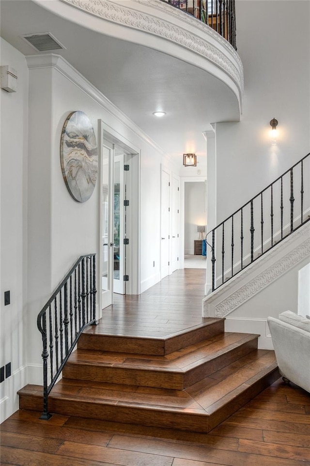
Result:
[[160,371],[152,370],[151,368],[139,370],[81,363],[75,364],[71,363],[69,360],[62,371],[62,377],[63,379],[183,390],[256,349],[257,338],[254,338],[221,354],[212,361],[202,363],[200,366],[188,370],[187,372]]

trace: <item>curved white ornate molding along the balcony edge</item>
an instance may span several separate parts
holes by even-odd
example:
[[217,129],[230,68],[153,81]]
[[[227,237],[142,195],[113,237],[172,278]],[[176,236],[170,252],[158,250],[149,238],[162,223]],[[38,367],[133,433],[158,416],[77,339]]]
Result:
[[62,2],[111,23],[166,39],[198,54],[233,80],[238,88],[238,99],[241,101],[244,77],[239,55],[226,39],[198,19],[160,0]]

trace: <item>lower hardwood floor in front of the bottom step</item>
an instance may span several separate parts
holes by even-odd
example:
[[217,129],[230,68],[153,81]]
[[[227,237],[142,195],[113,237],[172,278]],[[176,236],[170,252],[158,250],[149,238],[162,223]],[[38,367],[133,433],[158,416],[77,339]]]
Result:
[[208,434],[17,411],[1,465],[309,466],[310,394],[279,379]]

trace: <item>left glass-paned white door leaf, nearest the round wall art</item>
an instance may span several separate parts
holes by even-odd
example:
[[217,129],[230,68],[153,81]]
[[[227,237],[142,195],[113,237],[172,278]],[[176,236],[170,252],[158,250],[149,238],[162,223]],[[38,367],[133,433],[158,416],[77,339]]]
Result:
[[101,147],[101,292],[102,309],[113,300],[113,147]]

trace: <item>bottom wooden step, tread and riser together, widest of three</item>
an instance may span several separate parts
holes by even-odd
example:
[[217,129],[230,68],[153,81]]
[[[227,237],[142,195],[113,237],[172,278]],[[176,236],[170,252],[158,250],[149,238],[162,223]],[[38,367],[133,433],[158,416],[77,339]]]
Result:
[[[273,351],[256,350],[244,358],[244,367],[225,380],[207,379],[208,388],[197,384],[186,390],[158,389],[62,379],[49,396],[51,411],[61,414],[208,432],[261,391],[260,379],[276,379]],[[233,371],[233,369],[232,369]],[[219,371],[220,372],[220,371]],[[201,382],[199,383],[201,384]],[[198,384],[198,385],[199,385]],[[253,388],[254,387],[254,388]],[[42,409],[43,388],[27,385],[18,392],[21,408]],[[129,410],[129,411],[128,411]],[[175,416],[178,416],[177,418]]]

